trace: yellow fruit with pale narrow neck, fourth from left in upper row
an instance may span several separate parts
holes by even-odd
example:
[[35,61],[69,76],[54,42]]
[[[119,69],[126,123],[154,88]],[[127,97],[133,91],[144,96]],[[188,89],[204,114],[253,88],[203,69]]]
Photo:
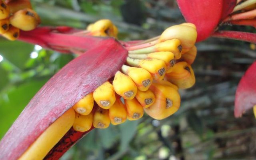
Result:
[[153,78],[147,70],[144,68],[129,67],[126,65],[122,66],[122,71],[128,74],[132,78],[139,90],[146,91],[152,84]]

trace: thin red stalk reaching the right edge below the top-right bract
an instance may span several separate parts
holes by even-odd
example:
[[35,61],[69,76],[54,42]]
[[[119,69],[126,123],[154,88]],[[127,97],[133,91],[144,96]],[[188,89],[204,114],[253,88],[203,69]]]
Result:
[[256,33],[238,32],[238,31],[218,31],[212,35],[216,38],[228,38],[232,40],[242,40],[256,44]]

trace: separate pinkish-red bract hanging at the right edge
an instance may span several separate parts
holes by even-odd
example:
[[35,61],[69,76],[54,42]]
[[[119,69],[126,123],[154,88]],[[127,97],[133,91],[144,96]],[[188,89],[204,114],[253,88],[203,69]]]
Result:
[[256,105],[256,62],[254,62],[240,80],[236,89],[235,117]]

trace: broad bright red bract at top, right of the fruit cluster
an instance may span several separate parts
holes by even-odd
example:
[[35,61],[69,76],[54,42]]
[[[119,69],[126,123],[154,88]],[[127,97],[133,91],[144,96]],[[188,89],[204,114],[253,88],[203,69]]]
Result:
[[180,10],[187,22],[197,28],[197,42],[210,36],[218,25],[223,0],[177,0]]

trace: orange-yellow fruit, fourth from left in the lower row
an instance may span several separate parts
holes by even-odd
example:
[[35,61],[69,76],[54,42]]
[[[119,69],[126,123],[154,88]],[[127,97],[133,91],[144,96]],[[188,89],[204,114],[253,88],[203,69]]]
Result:
[[124,104],[126,106],[128,120],[138,120],[143,116],[143,107],[136,98],[133,98],[132,100],[124,100]]

